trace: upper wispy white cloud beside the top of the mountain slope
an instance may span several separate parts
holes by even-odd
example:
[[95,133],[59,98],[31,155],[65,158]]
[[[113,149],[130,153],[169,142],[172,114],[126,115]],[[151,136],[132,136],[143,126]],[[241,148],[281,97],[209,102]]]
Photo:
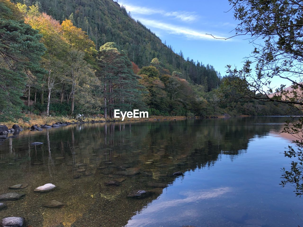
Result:
[[[119,2],[120,3],[120,2]],[[147,8],[142,6],[135,6],[135,5],[129,5],[129,4],[123,4],[125,6],[127,11],[130,11],[134,14],[143,14],[143,15],[152,15],[152,14],[161,14],[166,17],[173,17],[175,19],[179,19],[181,21],[185,22],[192,22],[199,18],[199,16],[195,12],[185,12],[185,11],[171,11],[171,12],[165,12],[161,9],[155,9],[155,8]]]

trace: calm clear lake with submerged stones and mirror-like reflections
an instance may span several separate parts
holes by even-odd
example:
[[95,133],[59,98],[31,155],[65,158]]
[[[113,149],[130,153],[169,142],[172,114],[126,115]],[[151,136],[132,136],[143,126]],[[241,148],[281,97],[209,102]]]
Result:
[[[32,132],[0,145],[0,219],[27,226],[303,226],[283,117],[114,122]],[[30,143],[42,142],[33,146]],[[184,175],[172,175],[181,171]],[[27,183],[23,189],[9,186]],[[34,192],[52,183],[49,192]],[[108,185],[107,185],[108,184]],[[133,191],[141,196],[129,196]],[[50,200],[62,208],[47,208]]]

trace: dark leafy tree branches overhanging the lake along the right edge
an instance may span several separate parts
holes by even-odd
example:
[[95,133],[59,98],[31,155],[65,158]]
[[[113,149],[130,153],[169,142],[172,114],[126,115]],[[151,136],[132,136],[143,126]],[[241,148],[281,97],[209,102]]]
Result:
[[[249,37],[254,46],[241,69],[227,66],[223,93],[229,101],[260,100],[289,105],[289,113],[303,109],[303,4],[301,0],[229,0],[234,18],[239,21],[236,36]],[[230,37],[231,38],[231,37]],[[272,87],[272,79],[291,86]],[[223,86],[224,87],[224,86]],[[296,112],[298,113],[298,112]],[[281,185],[295,184],[296,194],[303,194],[302,121],[286,121],[283,132],[296,140],[285,151],[287,157],[297,157],[289,171],[282,169]]]

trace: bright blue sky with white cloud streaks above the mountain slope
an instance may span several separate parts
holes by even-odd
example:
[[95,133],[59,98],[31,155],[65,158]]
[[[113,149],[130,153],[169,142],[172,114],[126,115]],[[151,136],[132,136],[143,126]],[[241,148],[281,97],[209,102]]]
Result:
[[[211,36],[227,38],[235,35],[233,29],[237,21],[228,0],[118,0],[130,11],[132,17],[141,21],[147,28],[172,46],[175,52],[182,50],[185,59],[198,60],[211,64],[224,76],[227,64],[240,68],[244,58],[254,47],[243,36],[229,40],[218,40]],[[248,38],[248,37],[246,37]],[[271,85],[286,81],[276,78]]]

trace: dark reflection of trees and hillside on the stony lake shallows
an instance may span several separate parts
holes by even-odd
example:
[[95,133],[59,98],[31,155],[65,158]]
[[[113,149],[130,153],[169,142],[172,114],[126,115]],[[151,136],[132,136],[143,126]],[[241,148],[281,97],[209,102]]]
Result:
[[[269,120],[272,122],[272,119]],[[128,199],[126,196],[130,191],[150,190],[154,188],[153,184],[158,183],[172,184],[175,178],[169,176],[169,173],[211,167],[222,155],[234,159],[247,149],[249,140],[255,135],[264,136],[273,127],[280,127],[260,127],[256,124],[258,122],[257,118],[236,118],[85,124],[50,130],[45,132],[46,135],[29,134],[25,137],[28,144],[33,141],[45,142],[36,147],[36,152],[33,147],[29,151],[24,141],[21,144],[15,140],[12,146],[18,151],[15,152],[17,156],[22,157],[30,152],[30,160],[23,163],[25,172],[30,163],[43,163],[35,167],[38,170],[32,171],[27,180],[37,184],[45,181],[58,184],[60,189],[52,192],[52,195],[68,204],[62,208],[64,216],[55,210],[43,217],[35,214],[38,223],[56,226],[50,223],[60,223],[64,219],[65,226],[83,226],[88,223],[89,226],[122,226],[134,212],[142,210],[158,197],[153,194],[145,199]],[[0,152],[2,154],[2,150]],[[64,159],[56,159],[62,156]],[[49,158],[51,164],[48,163]],[[154,161],[145,164],[148,160]],[[87,164],[85,173],[91,172],[92,175],[73,179],[72,176],[78,174],[77,168],[73,167],[77,163]],[[98,169],[100,167],[102,169]],[[129,167],[138,170],[140,174],[125,177],[119,187],[104,185],[111,179],[105,172],[115,175]],[[14,171],[9,174],[12,175],[5,179],[5,185],[10,183],[9,178]],[[32,193],[28,193],[25,199],[31,196]],[[33,199],[39,202],[36,197]],[[29,202],[22,206],[28,212],[35,210]],[[28,212],[23,215],[31,216]]]

